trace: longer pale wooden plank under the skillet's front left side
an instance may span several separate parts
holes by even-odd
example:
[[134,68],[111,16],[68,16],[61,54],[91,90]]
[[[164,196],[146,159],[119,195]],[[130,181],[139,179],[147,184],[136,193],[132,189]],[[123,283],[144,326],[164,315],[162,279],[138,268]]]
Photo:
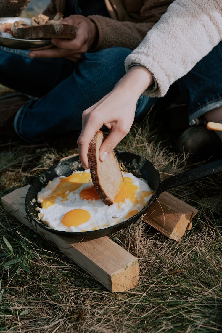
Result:
[[87,241],[55,235],[27,219],[25,196],[29,185],[1,198],[6,211],[20,222],[55,243],[70,259],[81,266],[110,291],[125,291],[135,287],[139,278],[136,257],[113,242],[108,236]]

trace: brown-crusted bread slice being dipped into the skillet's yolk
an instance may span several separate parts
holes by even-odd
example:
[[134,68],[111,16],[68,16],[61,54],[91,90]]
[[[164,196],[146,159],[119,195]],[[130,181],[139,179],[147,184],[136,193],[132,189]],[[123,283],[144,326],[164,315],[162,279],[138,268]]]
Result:
[[104,140],[105,135],[98,131],[89,145],[88,162],[96,191],[100,199],[109,206],[114,202],[114,198],[124,180],[113,152],[106,161],[100,161],[99,150]]

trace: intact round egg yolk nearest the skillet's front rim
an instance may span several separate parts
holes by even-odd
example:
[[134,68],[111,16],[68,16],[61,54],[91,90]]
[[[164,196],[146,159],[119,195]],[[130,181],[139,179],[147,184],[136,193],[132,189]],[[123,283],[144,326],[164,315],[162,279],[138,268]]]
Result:
[[78,227],[78,225],[87,222],[90,219],[90,213],[85,209],[72,209],[62,218],[62,223],[67,227]]

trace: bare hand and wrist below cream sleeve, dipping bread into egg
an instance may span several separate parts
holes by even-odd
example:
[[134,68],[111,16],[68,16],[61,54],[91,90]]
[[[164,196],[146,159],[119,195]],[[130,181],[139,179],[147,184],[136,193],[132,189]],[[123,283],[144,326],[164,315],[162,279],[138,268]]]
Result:
[[142,66],[133,66],[99,102],[82,115],[82,132],[78,138],[79,157],[85,168],[88,164],[89,143],[103,125],[111,130],[100,148],[100,160],[105,161],[111,151],[129,132],[136,102],[143,91],[153,83],[151,73]]

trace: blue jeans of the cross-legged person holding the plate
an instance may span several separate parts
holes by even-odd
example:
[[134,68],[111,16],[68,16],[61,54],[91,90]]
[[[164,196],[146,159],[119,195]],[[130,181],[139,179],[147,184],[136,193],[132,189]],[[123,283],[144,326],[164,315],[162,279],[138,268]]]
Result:
[[[77,63],[63,58],[29,58],[29,51],[0,48],[0,83],[36,97],[16,114],[14,128],[25,141],[82,128],[82,113],[109,93],[125,74],[130,49],[113,47],[86,53]],[[136,117],[153,99],[143,95]],[[121,110],[120,110],[121,112]]]

